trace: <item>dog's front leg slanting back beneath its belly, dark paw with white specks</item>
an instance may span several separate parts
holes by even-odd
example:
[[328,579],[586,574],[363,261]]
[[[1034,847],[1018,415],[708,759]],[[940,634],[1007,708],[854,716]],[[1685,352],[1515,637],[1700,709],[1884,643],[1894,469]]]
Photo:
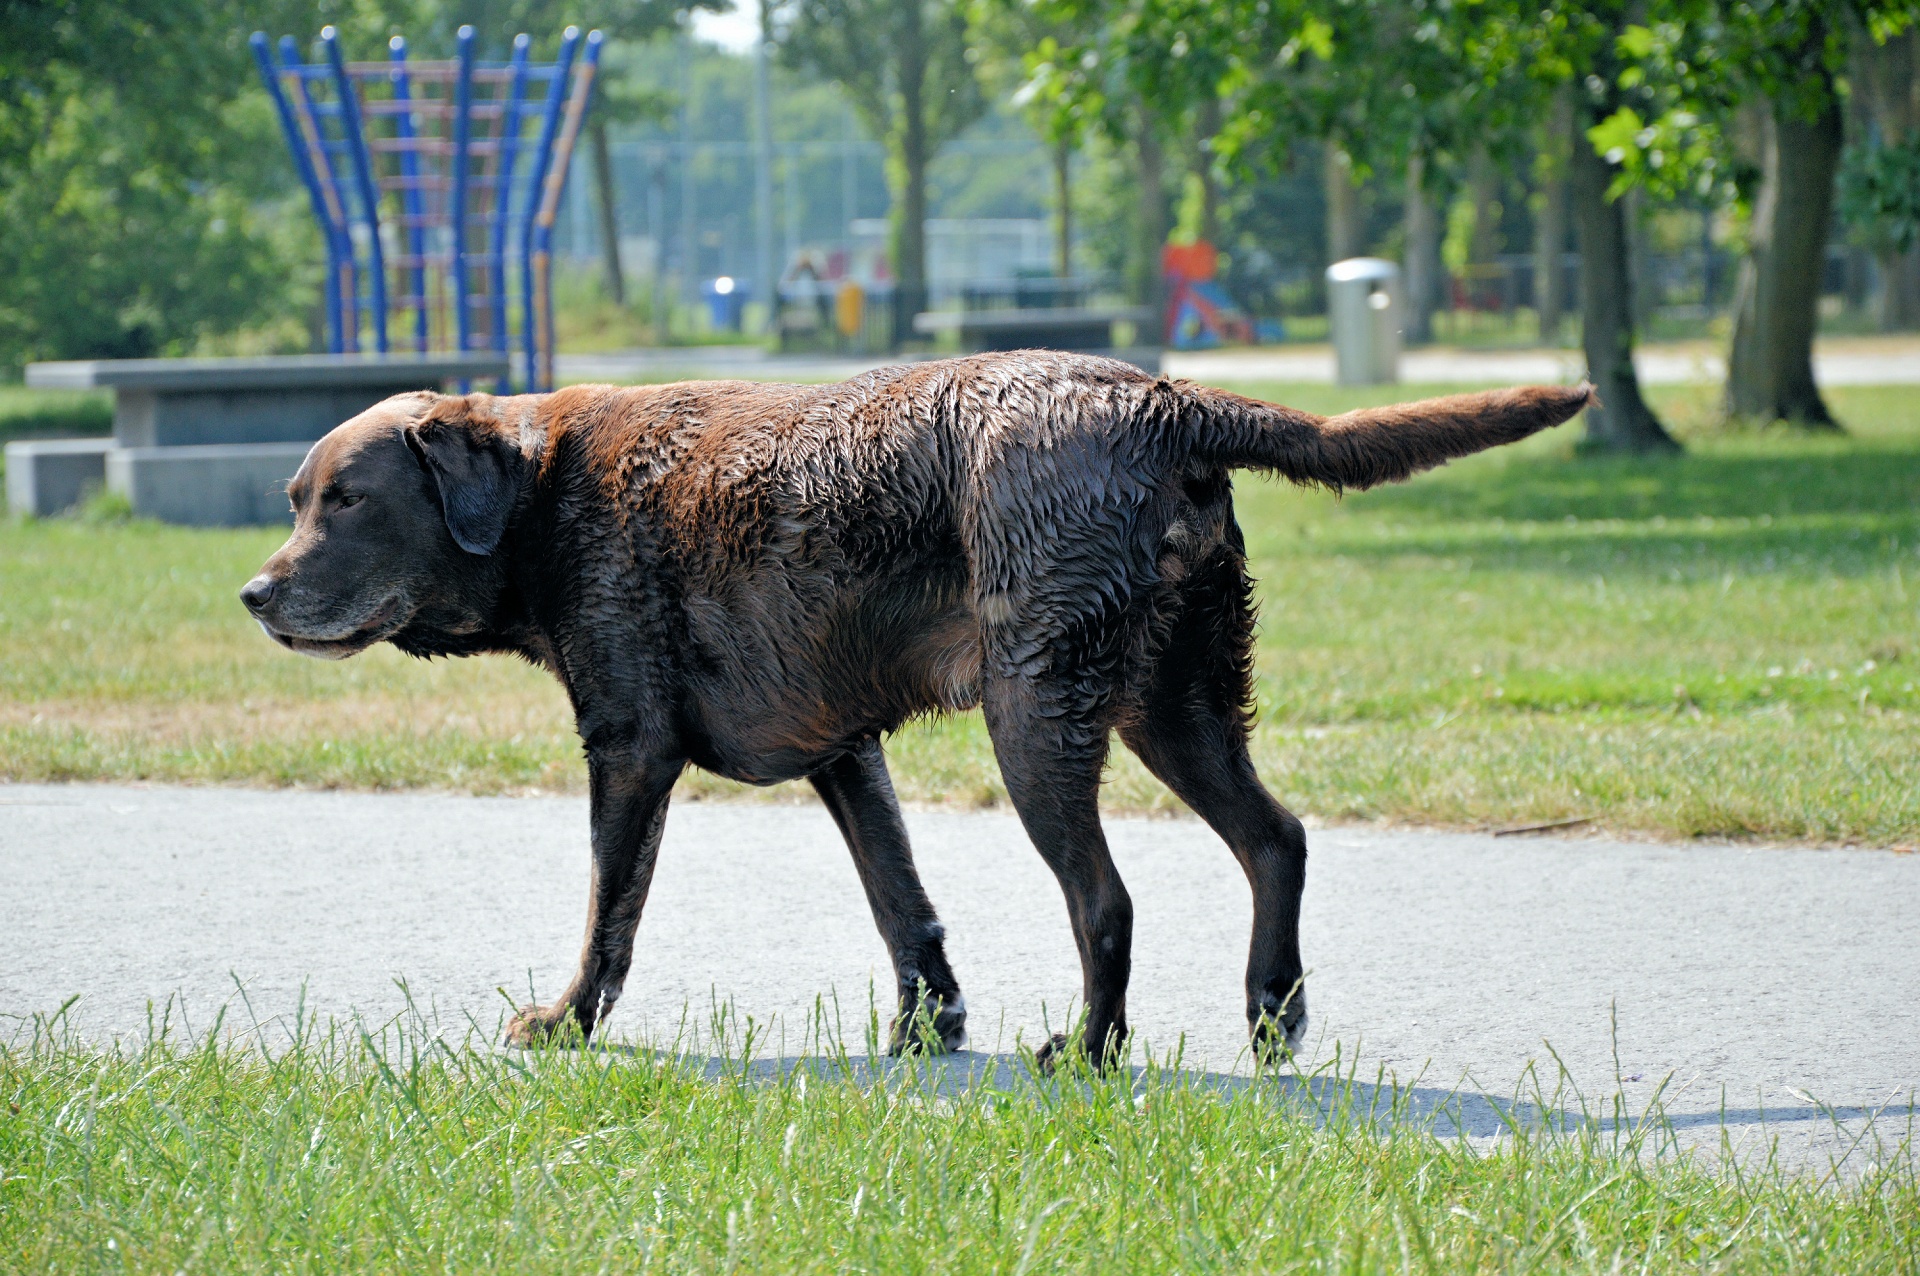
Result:
[[893,957],[899,1015],[889,1027],[889,1050],[912,1050],[924,1044],[927,1030],[947,1050],[962,1050],[966,1000],[947,965],[947,933],[914,869],[879,741],[860,741],[810,779],[847,839],[866,902],[874,908],[874,925]]

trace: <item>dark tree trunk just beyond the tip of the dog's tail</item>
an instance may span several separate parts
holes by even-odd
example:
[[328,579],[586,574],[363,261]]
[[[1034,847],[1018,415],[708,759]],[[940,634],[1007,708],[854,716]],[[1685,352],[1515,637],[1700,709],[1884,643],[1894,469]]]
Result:
[[1569,196],[1580,236],[1580,338],[1586,376],[1599,403],[1586,409],[1586,445],[1603,451],[1678,451],[1634,372],[1634,305],[1626,209],[1607,200],[1613,165],[1594,152],[1586,121],[1574,113]]

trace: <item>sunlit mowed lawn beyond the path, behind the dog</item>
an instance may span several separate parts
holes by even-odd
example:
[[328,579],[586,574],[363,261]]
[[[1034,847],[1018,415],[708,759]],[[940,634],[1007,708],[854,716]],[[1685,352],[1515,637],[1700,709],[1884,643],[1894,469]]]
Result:
[[[1236,390],[1315,411],[1442,391]],[[1240,476],[1271,789],[1334,821],[1920,840],[1920,395],[1836,390],[1847,437],[1720,432],[1713,397],[1657,395],[1680,459],[1580,457],[1567,426],[1344,501]],[[584,785],[543,673],[273,647],[234,591],[280,535],[0,528],[0,775]],[[1004,800],[977,714],[889,754],[908,800]],[[1108,802],[1177,808],[1119,746]]]

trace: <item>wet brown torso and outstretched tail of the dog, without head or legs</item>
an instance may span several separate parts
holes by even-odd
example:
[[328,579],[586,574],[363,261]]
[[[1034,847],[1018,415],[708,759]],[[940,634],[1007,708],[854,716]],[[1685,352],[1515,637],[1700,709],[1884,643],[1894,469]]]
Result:
[[716,769],[774,781],[975,704],[983,670],[1092,666],[1064,708],[1098,718],[1146,677],[1181,581],[1238,553],[1231,468],[1371,485],[1565,420],[1586,393],[1327,420],[1021,351],[835,386],[576,386],[547,403],[545,470],[672,579]]

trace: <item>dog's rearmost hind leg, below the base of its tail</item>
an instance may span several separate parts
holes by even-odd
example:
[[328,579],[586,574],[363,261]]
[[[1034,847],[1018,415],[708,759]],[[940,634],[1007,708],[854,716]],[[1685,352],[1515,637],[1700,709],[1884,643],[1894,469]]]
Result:
[[1300,894],[1308,840],[1300,821],[1254,773],[1246,750],[1252,604],[1238,528],[1181,583],[1173,622],[1140,712],[1119,737],[1140,762],[1212,825],[1254,888],[1246,959],[1246,1023],[1254,1048],[1275,1057],[1300,1042],[1308,994],[1300,965]]

